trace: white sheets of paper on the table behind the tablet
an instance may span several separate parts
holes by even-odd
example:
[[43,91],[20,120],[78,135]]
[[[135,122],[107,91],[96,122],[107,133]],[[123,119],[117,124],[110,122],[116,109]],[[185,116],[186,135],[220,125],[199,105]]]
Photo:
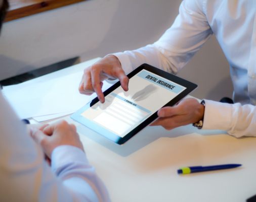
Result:
[[[21,84],[4,86],[3,94],[21,119],[38,122],[71,114],[90,102],[96,94],[78,91],[83,69],[99,58],[44,75]],[[104,81],[103,90],[112,84]]]

